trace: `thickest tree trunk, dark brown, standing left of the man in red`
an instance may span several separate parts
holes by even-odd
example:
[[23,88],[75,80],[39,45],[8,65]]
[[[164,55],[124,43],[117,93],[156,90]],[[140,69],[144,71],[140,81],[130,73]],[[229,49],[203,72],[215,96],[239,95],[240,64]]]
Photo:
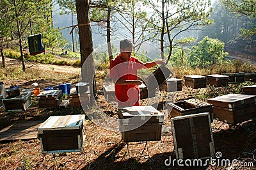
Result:
[[[93,42],[92,29],[90,25],[89,1],[76,0],[77,24],[79,28],[79,42],[81,53],[81,78],[82,82],[89,82],[90,91],[96,94],[93,86],[94,78],[94,61],[93,61]],[[84,25],[83,25],[84,24]],[[91,101],[93,101],[91,95]]]

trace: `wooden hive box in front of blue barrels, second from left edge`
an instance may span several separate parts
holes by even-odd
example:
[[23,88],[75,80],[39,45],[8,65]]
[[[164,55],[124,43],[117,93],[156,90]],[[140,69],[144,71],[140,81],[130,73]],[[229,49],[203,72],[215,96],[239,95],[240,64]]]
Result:
[[42,91],[37,97],[40,108],[58,108],[62,101],[62,92],[61,90]]

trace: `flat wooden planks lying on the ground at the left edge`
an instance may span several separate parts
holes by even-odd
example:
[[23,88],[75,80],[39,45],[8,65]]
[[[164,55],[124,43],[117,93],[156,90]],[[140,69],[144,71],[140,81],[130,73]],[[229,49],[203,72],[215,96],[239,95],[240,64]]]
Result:
[[0,141],[37,138],[37,128],[43,121],[17,121],[0,130]]

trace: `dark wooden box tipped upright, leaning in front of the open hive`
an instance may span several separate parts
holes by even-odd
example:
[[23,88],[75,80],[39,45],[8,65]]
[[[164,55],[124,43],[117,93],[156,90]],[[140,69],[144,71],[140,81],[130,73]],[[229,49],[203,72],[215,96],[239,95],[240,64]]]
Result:
[[215,149],[209,113],[177,116],[171,121],[177,160],[214,157]]

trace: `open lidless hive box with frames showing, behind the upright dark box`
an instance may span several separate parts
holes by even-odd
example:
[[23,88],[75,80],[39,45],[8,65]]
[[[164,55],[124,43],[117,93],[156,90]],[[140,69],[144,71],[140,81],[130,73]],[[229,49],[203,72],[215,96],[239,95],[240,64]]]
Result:
[[200,112],[209,112],[211,116],[211,121],[213,120],[213,106],[207,102],[200,101],[195,98],[191,98],[188,100],[182,100],[179,102],[168,103],[166,105],[168,109],[168,113],[171,118],[176,116],[184,116],[188,114],[196,114]]

